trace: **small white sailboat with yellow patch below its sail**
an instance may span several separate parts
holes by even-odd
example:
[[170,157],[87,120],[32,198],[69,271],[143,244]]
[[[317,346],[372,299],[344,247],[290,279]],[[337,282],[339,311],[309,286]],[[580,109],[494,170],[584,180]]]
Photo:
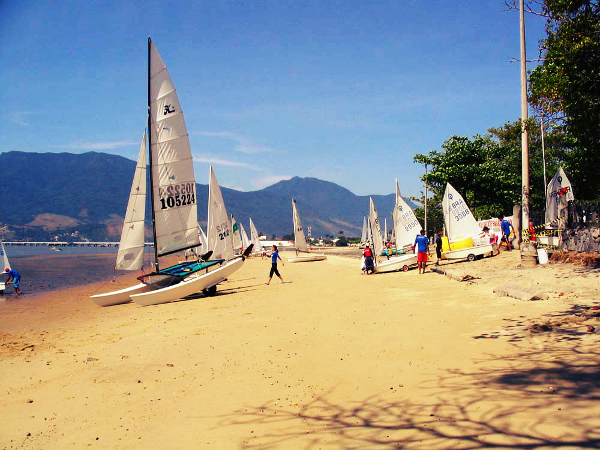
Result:
[[481,229],[462,196],[450,183],[446,184],[442,208],[449,244],[449,250],[443,250],[446,259],[474,261],[477,256],[494,251],[492,244],[477,239]]

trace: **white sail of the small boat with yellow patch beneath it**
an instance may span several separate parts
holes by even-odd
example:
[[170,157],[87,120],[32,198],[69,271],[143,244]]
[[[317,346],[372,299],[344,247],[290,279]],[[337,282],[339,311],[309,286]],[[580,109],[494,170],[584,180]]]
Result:
[[481,229],[477,225],[471,210],[450,183],[446,184],[442,208],[449,242],[456,242],[481,234]]

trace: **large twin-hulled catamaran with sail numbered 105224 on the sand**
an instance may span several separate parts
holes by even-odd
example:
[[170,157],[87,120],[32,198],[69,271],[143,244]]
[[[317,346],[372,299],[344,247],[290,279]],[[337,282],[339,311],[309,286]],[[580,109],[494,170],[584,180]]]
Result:
[[[220,259],[186,261],[166,269],[159,267],[159,257],[196,248],[200,245],[200,238],[196,182],[187,128],[167,67],[151,39],[148,39],[148,130],[155,271],[140,277],[141,283],[135,286],[92,296],[92,300],[100,306],[129,300],[145,306],[171,302],[203,290],[214,293],[216,285],[239,269],[245,258],[242,255],[228,261],[228,253],[222,251],[222,247],[214,246],[213,252]],[[143,266],[145,152],[144,134],[127,204],[116,269],[138,270]],[[209,205],[212,206],[210,200]],[[221,205],[217,204],[215,208],[219,209]],[[224,205],[222,209],[225,209]],[[228,219],[224,223],[229,234]],[[225,236],[222,234],[221,237]],[[210,256],[211,252],[208,252],[204,259]]]

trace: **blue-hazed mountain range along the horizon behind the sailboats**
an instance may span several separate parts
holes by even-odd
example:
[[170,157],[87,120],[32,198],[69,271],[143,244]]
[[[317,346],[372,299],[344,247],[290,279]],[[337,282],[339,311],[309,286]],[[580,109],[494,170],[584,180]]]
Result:
[[[8,237],[42,239],[48,233],[77,230],[91,240],[119,239],[134,161],[96,152],[6,152],[0,154],[0,164],[10,168],[3,174],[9,202],[0,210],[0,225],[8,225],[13,233]],[[389,183],[393,189],[393,180]],[[363,216],[369,211],[369,196],[357,196],[316,178],[294,177],[253,192],[221,189],[227,210],[236,220],[249,230],[252,217],[259,231],[268,236],[293,232],[292,198],[313,236],[335,236],[340,230],[346,236],[359,236]],[[372,197],[382,222],[391,217],[394,194]],[[207,201],[208,185],[198,184],[198,219],[203,226]],[[147,211],[149,217],[149,207]]]

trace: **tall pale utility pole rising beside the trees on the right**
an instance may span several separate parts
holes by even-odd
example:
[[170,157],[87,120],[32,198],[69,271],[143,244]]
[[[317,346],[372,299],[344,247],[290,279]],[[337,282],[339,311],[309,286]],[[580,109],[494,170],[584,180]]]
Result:
[[[527,54],[525,51],[525,8],[524,0],[519,0],[521,31],[521,183],[522,183],[522,223],[521,229],[529,229],[529,145],[527,133]],[[523,236],[523,234],[521,234]]]

